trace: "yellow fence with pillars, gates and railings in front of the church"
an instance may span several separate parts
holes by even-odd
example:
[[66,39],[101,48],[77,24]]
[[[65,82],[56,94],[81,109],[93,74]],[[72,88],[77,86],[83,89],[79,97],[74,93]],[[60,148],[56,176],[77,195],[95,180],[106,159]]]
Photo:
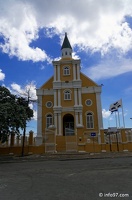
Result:
[[[24,154],[132,151],[132,129],[120,129],[112,134],[103,129],[94,137],[90,133],[80,131],[75,135],[55,136],[54,130],[45,130],[43,139],[42,144],[37,146],[33,132],[29,132],[25,138]],[[7,142],[2,144],[0,141],[0,155],[21,155],[22,144],[23,137],[11,135]]]

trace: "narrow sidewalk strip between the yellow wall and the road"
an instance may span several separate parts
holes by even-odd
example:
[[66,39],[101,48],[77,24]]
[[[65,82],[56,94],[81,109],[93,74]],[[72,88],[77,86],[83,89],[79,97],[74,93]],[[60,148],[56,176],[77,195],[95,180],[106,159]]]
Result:
[[48,161],[48,160],[84,160],[84,159],[105,159],[105,158],[121,158],[132,157],[132,152],[103,152],[103,153],[48,153],[42,155],[25,155],[24,157],[6,155],[0,156],[1,163],[12,162],[32,162],[32,161]]

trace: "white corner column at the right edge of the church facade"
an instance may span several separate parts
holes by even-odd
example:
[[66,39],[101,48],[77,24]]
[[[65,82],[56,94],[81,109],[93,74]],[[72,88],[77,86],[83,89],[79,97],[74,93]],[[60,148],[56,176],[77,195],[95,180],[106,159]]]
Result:
[[97,105],[97,115],[98,115],[98,126],[99,129],[101,129],[103,128],[103,120],[102,120],[102,106],[101,106],[100,93],[96,93],[96,105]]

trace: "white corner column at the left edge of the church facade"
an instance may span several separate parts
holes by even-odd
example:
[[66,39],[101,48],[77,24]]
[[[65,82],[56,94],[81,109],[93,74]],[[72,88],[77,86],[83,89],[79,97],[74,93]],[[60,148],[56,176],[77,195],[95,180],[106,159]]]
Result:
[[37,108],[37,136],[42,137],[42,96],[38,96]]

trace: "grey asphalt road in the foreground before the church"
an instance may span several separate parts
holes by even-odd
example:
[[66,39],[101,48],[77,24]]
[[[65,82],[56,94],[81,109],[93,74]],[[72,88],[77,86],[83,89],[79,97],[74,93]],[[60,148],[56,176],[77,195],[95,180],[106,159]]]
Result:
[[132,199],[132,157],[0,164],[0,200],[88,199]]

